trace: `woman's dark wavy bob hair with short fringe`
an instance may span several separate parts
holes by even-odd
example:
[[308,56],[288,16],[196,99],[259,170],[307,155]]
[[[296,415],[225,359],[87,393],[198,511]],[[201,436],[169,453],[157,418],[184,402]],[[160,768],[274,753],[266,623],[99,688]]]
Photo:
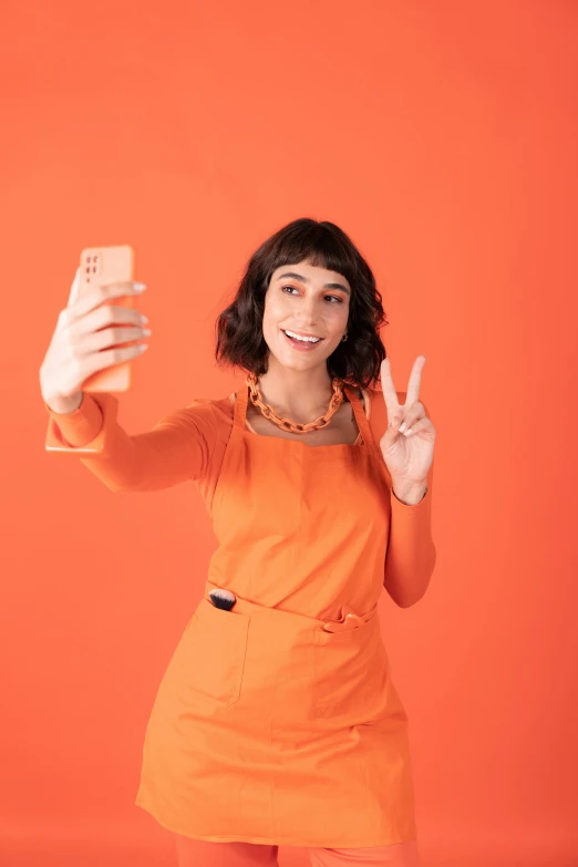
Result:
[[307,217],[283,226],[250,257],[234,301],[215,324],[217,364],[242,368],[258,376],[267,372],[269,347],[262,333],[265,296],[277,268],[301,261],[337,271],[348,279],[351,287],[348,339],[327,359],[327,369],[331,378],[369,388],[379,379],[381,362],[386,358],[379,329],[389,324],[375,278],[339,226]]

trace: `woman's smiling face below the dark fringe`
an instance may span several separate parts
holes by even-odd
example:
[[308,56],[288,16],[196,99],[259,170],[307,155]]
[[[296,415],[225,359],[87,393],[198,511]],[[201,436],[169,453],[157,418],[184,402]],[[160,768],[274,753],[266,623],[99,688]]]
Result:
[[[275,359],[296,370],[326,364],[345,331],[350,292],[348,280],[337,271],[305,261],[277,268],[265,297],[262,318],[269,363]],[[314,345],[293,342],[285,331],[321,340]]]

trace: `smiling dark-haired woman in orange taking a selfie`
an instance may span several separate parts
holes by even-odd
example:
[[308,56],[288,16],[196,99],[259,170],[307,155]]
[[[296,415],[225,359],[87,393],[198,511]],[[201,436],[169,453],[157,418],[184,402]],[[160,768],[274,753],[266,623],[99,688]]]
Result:
[[279,845],[317,867],[415,867],[407,716],[376,606],[383,587],[414,605],[435,565],[424,357],[398,393],[368,264],[334,224],[298,219],[252,255],[217,320],[240,391],[130,436],[112,394],[80,390],[137,354],[106,348],[145,334],[138,311],[116,330],[126,309],[99,307],[126,291],[62,311],[40,379],[63,448],[100,448],[79,460],[112,491],[193,479],[218,539],[158,688],[136,804],[174,832],[182,867],[275,865]]

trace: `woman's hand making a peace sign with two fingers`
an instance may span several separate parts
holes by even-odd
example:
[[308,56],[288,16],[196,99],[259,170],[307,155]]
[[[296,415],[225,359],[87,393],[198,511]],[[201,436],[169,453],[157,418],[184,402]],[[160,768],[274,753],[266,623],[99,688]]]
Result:
[[[388,430],[380,440],[380,448],[395,485],[419,486],[426,483],[433,463],[435,427],[425,415],[420,401],[420,384],[425,355],[414,361],[405,403],[400,405],[391,378],[390,360],[381,364],[381,388],[388,409]],[[405,425],[400,430],[400,425]]]

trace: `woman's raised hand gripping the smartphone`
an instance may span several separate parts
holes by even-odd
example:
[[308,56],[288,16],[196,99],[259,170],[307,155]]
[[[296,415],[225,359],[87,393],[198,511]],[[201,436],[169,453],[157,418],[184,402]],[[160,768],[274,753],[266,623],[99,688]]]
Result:
[[138,310],[112,303],[115,298],[140,295],[146,289],[144,283],[107,283],[94,287],[81,298],[79,286],[80,269],[40,368],[42,400],[56,413],[73,412],[80,406],[82,383],[91,374],[138,358],[147,349],[146,343],[118,343],[151,334],[145,327],[146,317]]

